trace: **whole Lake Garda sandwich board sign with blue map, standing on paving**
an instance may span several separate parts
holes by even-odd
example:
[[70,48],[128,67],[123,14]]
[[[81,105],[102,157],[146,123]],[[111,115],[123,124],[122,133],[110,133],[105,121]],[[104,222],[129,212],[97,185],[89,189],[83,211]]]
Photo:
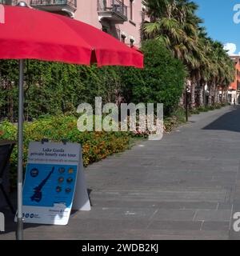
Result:
[[74,198],[78,210],[90,210],[81,146],[30,142],[23,184],[24,222],[66,225]]

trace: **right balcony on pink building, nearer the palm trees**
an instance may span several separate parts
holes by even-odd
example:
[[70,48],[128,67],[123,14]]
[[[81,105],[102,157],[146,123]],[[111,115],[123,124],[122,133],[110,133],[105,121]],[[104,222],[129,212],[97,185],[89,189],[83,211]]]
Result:
[[121,0],[98,0],[98,16],[113,22],[127,21],[127,6]]

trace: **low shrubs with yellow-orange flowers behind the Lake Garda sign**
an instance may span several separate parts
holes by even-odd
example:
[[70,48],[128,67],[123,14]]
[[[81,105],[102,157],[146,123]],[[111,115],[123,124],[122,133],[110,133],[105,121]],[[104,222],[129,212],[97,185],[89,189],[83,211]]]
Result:
[[[0,123],[0,139],[16,140],[17,125],[10,122]],[[130,147],[128,132],[80,132],[77,129],[77,118],[73,116],[48,117],[24,125],[24,165],[26,165],[29,142],[48,138],[53,142],[78,142],[82,145],[84,166],[106,158],[110,154],[122,152]],[[15,186],[17,175],[17,147],[15,146],[10,159],[10,182]]]

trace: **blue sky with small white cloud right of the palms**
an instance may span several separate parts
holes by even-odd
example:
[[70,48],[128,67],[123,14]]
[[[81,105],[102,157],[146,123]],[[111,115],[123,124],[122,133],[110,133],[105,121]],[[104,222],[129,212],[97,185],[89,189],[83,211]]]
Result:
[[[194,0],[198,3],[198,16],[204,19],[204,26],[211,38],[223,44],[231,53],[240,54],[240,0]],[[238,11],[234,6],[239,4]],[[239,23],[234,23],[234,14]]]

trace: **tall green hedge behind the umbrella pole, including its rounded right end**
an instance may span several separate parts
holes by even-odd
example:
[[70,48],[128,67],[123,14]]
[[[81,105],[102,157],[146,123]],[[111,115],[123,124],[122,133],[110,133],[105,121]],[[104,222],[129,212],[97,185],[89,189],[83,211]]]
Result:
[[[169,117],[178,106],[186,72],[182,62],[158,41],[148,40],[141,49],[145,68],[78,66],[58,62],[26,61],[25,118],[44,114],[75,114],[82,102],[158,102]],[[0,120],[17,121],[18,62],[0,60]]]

